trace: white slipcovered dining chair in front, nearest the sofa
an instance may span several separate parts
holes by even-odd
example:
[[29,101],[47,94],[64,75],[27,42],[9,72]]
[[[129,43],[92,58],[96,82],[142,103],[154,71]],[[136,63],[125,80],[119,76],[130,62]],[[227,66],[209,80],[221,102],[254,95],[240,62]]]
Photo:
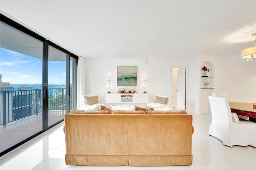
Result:
[[208,98],[212,112],[212,123],[208,134],[220,139],[226,146],[251,145],[256,147],[256,123],[239,120],[236,114],[233,114],[232,119],[231,109],[226,98],[213,96]]

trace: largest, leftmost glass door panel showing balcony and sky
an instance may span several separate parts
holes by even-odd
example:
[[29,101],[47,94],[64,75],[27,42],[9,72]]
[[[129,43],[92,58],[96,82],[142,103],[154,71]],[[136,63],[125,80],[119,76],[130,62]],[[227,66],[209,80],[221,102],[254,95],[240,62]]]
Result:
[[0,151],[43,130],[43,42],[0,22]]

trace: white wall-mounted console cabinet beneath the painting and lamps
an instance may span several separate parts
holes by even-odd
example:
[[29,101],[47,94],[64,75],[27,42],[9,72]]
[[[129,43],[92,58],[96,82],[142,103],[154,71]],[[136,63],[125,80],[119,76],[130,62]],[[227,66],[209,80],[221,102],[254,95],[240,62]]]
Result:
[[148,103],[146,93],[108,93],[106,103]]

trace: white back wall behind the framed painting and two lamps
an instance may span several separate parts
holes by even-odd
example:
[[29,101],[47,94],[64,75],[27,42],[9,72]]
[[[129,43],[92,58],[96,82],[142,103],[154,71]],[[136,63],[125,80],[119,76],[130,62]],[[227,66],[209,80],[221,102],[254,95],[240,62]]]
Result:
[[[145,63],[148,61],[148,64]],[[154,102],[156,95],[172,95],[170,70],[173,67],[187,67],[186,60],[166,59],[86,59],[87,94],[99,95],[100,103],[106,103],[108,77],[111,77],[110,92],[116,93],[119,87],[116,80],[116,67],[120,65],[137,66],[137,93],[144,92],[143,77],[146,77],[148,102]],[[127,87],[127,88],[134,88]]]

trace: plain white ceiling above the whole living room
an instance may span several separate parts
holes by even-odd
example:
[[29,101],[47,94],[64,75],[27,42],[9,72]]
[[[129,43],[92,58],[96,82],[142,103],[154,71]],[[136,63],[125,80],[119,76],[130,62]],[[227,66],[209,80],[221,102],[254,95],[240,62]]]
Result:
[[256,32],[256,0],[1,0],[0,10],[86,59],[232,56]]

